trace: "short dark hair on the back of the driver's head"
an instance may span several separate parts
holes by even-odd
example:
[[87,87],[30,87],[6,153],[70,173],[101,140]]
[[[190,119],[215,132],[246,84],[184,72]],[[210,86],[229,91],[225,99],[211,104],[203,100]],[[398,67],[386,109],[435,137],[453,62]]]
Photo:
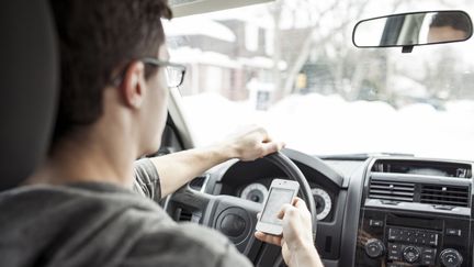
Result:
[[[134,59],[157,57],[167,0],[50,0],[60,48],[53,145],[102,114],[103,89]],[[119,73],[119,74],[117,74]],[[149,76],[146,69],[146,76]]]

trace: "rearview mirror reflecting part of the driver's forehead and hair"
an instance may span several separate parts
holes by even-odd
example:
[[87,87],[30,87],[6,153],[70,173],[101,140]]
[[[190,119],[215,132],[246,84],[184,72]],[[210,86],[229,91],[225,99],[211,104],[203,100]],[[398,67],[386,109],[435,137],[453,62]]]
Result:
[[404,47],[463,42],[472,36],[464,11],[427,11],[379,16],[358,22],[352,32],[357,47]]

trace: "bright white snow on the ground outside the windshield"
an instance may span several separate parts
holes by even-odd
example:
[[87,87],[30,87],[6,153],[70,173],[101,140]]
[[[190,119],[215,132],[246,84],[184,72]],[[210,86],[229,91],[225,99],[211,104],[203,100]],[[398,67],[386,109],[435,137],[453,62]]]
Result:
[[474,101],[448,102],[445,111],[424,103],[395,110],[381,101],[312,93],[287,97],[266,112],[250,101],[213,93],[183,101],[198,145],[257,123],[287,147],[311,155],[391,152],[474,160]]

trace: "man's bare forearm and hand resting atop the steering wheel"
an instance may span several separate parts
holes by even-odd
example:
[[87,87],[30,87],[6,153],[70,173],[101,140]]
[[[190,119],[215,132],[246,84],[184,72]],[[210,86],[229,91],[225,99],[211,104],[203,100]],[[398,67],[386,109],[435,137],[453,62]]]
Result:
[[154,157],[151,162],[160,176],[163,198],[217,164],[232,158],[255,160],[282,147],[283,143],[273,142],[267,131],[251,126],[215,145]]

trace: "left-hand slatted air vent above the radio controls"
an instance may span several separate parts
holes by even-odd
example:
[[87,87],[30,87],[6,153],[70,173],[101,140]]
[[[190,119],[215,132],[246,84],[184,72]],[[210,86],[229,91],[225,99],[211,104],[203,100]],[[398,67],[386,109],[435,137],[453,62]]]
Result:
[[414,183],[371,179],[369,198],[413,202],[414,194]]

